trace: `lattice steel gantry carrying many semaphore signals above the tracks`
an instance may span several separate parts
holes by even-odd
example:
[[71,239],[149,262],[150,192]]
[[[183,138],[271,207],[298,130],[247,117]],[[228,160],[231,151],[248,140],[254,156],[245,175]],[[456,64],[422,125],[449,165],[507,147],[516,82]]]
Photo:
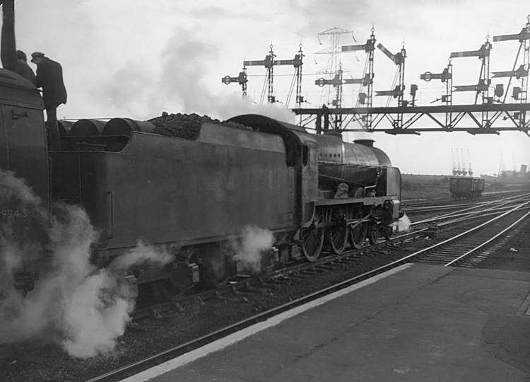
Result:
[[[302,50],[293,60],[276,60],[271,50],[263,61],[245,61],[243,71],[240,76],[225,76],[223,83],[240,83],[244,95],[247,85],[247,66],[265,66],[267,69],[266,83],[262,91],[261,102],[264,100],[265,88],[268,89],[268,102],[276,103],[273,93],[273,66],[278,64],[290,64],[295,66],[297,73],[293,83],[296,82],[297,97],[296,108],[293,109],[296,115],[300,115],[300,125],[307,129],[316,129],[317,133],[328,129],[335,129],[343,132],[385,132],[387,134],[416,134],[421,132],[468,132],[469,134],[500,134],[502,131],[520,131],[530,137],[530,121],[526,113],[530,111],[528,99],[529,91],[529,70],[530,70],[530,15],[526,18],[526,25],[517,34],[493,36],[493,44],[498,42],[519,41],[519,50],[515,57],[512,70],[493,71],[490,76],[490,56],[493,44],[490,36],[478,50],[464,52],[451,52],[449,63],[439,73],[426,71],[421,74],[420,79],[428,82],[440,80],[444,84],[444,93],[440,98],[431,103],[442,101],[442,105],[416,105],[416,92],[418,86],[411,84],[411,100],[405,100],[405,59],[406,50],[403,46],[401,51],[393,54],[384,45],[376,45],[374,28],[370,38],[363,45],[343,45],[340,46],[339,37],[344,33],[351,33],[349,30],[332,28],[326,30],[321,35],[331,36],[331,47],[315,54],[330,54],[329,67],[319,74],[326,74],[327,78],[321,77],[315,81],[317,86],[329,86],[328,100],[321,108],[301,108],[305,102],[301,96],[302,83]],[[355,38],[354,38],[355,40]],[[390,90],[376,91],[375,96],[388,96],[389,101],[384,107],[373,107],[373,87],[374,87],[374,61],[375,48],[383,52],[394,64],[396,64],[396,77]],[[363,76],[361,78],[345,79],[342,63],[338,59],[340,52],[365,51],[367,61]],[[474,84],[454,84],[455,59],[465,57],[477,57],[481,60],[481,70],[478,81]],[[505,81],[505,83],[495,83],[495,81]],[[492,81],[493,80],[493,81]],[[517,83],[517,81],[519,83]],[[355,107],[345,108],[343,106],[343,85],[360,85]],[[331,86],[335,95],[330,100]],[[292,93],[293,84],[291,84]],[[475,92],[474,103],[455,104],[453,92]],[[511,91],[511,92],[510,92]],[[508,97],[511,94],[511,98]],[[390,100],[394,98],[397,106],[389,106]],[[290,99],[290,96],[288,100]],[[332,107],[329,107],[332,106]],[[331,123],[331,120],[334,122]],[[428,123],[422,123],[427,120]],[[384,126],[383,121],[389,121],[390,127]],[[314,122],[314,127],[312,125]],[[360,127],[350,127],[352,123]],[[418,127],[420,125],[420,127]],[[458,153],[457,153],[458,154]]]

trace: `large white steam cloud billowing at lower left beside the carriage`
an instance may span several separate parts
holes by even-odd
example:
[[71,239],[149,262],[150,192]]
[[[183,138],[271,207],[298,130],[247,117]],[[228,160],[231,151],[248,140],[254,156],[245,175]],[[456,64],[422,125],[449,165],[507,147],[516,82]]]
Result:
[[[112,351],[131,319],[136,298],[136,287],[124,278],[126,270],[144,262],[163,265],[172,256],[139,243],[109,267],[98,269],[90,263],[90,248],[98,235],[83,209],[62,204],[47,216],[40,199],[9,172],[0,171],[0,187],[2,206],[16,202],[32,212],[25,224],[12,217],[1,226],[0,343],[55,342],[80,358]],[[49,227],[48,219],[37,219],[42,216],[49,219]],[[24,229],[26,224],[29,230]],[[35,289],[23,297],[14,287],[14,276],[27,264],[23,260],[42,258],[37,240],[42,236],[32,236],[42,230],[47,234],[47,255],[40,262]],[[16,239],[20,234],[23,240]]]

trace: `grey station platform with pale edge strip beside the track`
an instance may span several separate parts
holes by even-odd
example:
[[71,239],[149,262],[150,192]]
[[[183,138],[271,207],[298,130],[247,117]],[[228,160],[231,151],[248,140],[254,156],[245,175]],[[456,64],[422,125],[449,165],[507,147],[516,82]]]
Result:
[[528,381],[529,293],[529,273],[403,265],[124,381]]

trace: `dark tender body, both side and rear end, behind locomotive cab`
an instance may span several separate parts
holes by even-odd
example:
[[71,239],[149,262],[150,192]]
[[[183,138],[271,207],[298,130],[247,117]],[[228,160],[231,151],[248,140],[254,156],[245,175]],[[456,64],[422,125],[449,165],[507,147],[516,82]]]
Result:
[[54,168],[69,175],[54,178],[54,187],[71,188],[64,196],[89,210],[106,248],[138,239],[200,243],[245,226],[292,227],[294,170],[281,138],[214,128],[197,141],[135,132],[119,153],[61,153]]

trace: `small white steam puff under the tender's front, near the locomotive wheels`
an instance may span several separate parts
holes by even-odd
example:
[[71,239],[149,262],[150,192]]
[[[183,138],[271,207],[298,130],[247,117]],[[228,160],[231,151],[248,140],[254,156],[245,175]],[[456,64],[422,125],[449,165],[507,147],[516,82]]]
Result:
[[243,229],[240,241],[232,241],[234,258],[243,270],[259,273],[273,243],[274,236],[271,231],[257,226],[247,226]]

